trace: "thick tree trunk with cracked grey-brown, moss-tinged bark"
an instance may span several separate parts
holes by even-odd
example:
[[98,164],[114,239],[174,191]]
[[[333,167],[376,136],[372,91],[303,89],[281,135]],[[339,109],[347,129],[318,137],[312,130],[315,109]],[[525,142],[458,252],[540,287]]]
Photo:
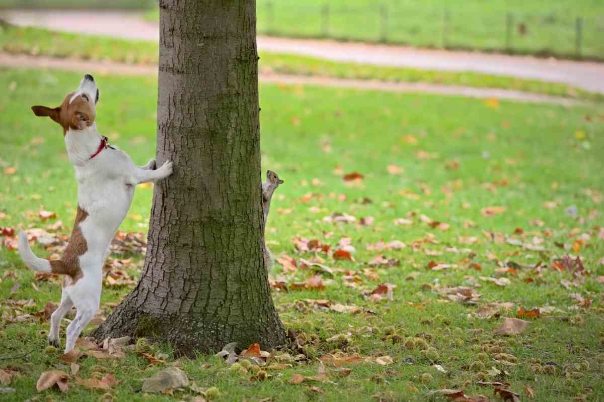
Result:
[[184,354],[283,344],[263,250],[254,0],[160,0],[156,183],[143,274],[93,336]]

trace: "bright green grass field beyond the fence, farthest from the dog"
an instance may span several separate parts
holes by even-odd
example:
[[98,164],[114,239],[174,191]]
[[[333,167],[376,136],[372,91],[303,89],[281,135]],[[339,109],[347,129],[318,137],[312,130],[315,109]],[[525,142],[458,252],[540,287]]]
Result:
[[[580,56],[604,58],[604,45],[598,39],[604,31],[604,4],[598,0],[559,0],[547,5],[539,0],[312,0],[304,4],[272,0],[259,1],[257,14],[258,32],[277,36],[570,58],[578,56],[576,18],[582,17]],[[158,10],[149,11],[147,18],[158,20]]]

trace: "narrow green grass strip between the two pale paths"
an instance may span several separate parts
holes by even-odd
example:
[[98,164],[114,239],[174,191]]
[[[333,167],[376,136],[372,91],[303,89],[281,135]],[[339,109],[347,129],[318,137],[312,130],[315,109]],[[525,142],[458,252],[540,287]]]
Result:
[[[112,39],[59,33],[42,28],[5,27],[0,49],[11,54],[73,57],[86,60],[111,60],[124,63],[155,64],[158,46],[146,41]],[[568,84],[547,83],[475,72],[431,71],[413,68],[343,63],[291,54],[260,52],[260,71],[321,77],[380,80],[387,82],[424,82],[469,87],[513,89],[567,98],[602,101],[604,95]]]

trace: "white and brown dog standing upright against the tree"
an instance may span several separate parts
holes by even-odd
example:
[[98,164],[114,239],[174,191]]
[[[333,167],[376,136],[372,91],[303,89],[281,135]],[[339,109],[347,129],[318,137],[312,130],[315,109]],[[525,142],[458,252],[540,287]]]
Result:
[[36,257],[27,233],[19,233],[19,252],[25,265],[38,272],[66,275],[61,303],[51,317],[48,342],[59,347],[59,325],[76,306],[76,318],[67,327],[65,353],[97,313],[103,282],[103,265],[109,243],[123,221],[139,183],[172,174],[172,162],[155,169],[155,161],[138,167],[120,149],[110,146],[95,123],[98,89],[86,74],[76,92],[56,108],[33,106],[36,116],[48,116],[63,127],[69,161],[76,170],[78,209],[71,238],[60,260]]

